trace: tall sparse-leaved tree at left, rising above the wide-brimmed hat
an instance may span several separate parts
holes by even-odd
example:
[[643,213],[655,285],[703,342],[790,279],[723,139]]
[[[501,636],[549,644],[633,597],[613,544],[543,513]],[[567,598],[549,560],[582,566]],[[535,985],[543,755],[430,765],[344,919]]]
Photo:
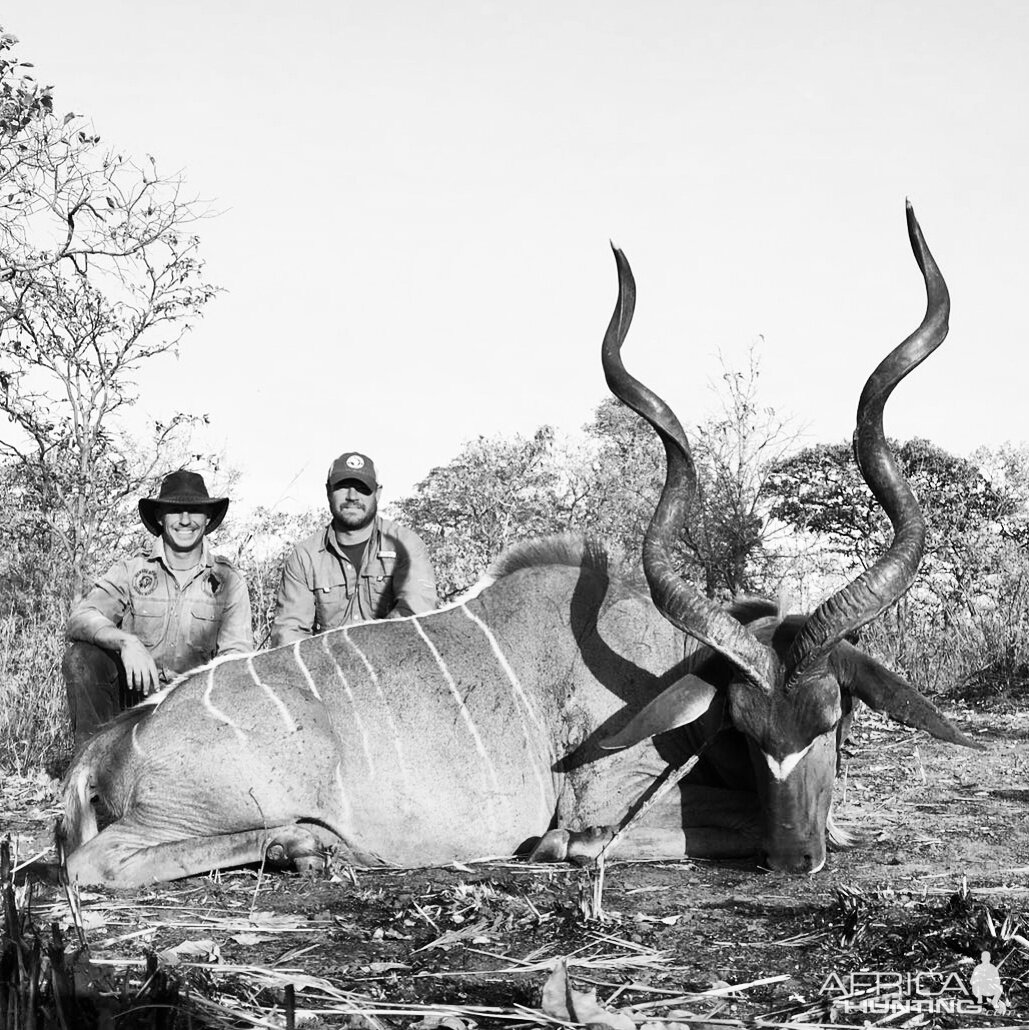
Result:
[[147,453],[119,418],[151,358],[174,351],[214,289],[178,176],[54,114],[0,35],[0,458],[78,593],[102,544],[183,442],[194,416],[153,427]]

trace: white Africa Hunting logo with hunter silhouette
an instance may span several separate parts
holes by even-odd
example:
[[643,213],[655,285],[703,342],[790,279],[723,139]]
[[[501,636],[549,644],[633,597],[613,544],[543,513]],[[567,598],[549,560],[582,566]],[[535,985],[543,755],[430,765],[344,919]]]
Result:
[[983,952],[965,980],[957,972],[884,972],[862,969],[841,976],[829,973],[821,992],[834,1014],[864,1012],[896,1016],[904,1012],[971,1015],[1007,1011],[1000,970]]

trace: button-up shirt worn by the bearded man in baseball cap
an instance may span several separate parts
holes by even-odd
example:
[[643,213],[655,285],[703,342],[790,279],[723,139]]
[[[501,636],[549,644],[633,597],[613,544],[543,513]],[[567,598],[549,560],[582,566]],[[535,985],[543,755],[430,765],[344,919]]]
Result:
[[416,533],[377,517],[357,570],[330,523],[286,558],[275,596],[272,647],[351,622],[431,612],[436,600],[428,550]]

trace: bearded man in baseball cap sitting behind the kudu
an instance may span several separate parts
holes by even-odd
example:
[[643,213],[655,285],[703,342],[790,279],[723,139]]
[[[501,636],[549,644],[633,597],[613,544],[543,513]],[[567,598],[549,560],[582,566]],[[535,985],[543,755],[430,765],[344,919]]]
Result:
[[272,647],[436,607],[428,551],[417,534],[378,514],[380,490],[368,455],[347,451],[333,461],[325,480],[333,520],[286,559]]

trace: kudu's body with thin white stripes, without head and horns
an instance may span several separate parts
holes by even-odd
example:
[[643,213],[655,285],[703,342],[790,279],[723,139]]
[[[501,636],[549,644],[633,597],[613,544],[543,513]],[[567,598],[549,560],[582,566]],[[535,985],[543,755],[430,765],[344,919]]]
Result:
[[[260,861],[271,842],[303,854],[321,829],[358,865],[436,864],[510,855],[555,821],[617,820],[688,757],[686,737],[619,755],[599,739],[691,645],[609,579],[603,552],[558,539],[509,565],[526,550],[531,563],[449,610],[216,661],[125,713],[66,779],[71,877],[170,880]],[[677,810],[674,844],[644,827],[631,853],[753,854],[753,796],[691,790],[695,830]],[[97,835],[93,797],[114,817]]]

